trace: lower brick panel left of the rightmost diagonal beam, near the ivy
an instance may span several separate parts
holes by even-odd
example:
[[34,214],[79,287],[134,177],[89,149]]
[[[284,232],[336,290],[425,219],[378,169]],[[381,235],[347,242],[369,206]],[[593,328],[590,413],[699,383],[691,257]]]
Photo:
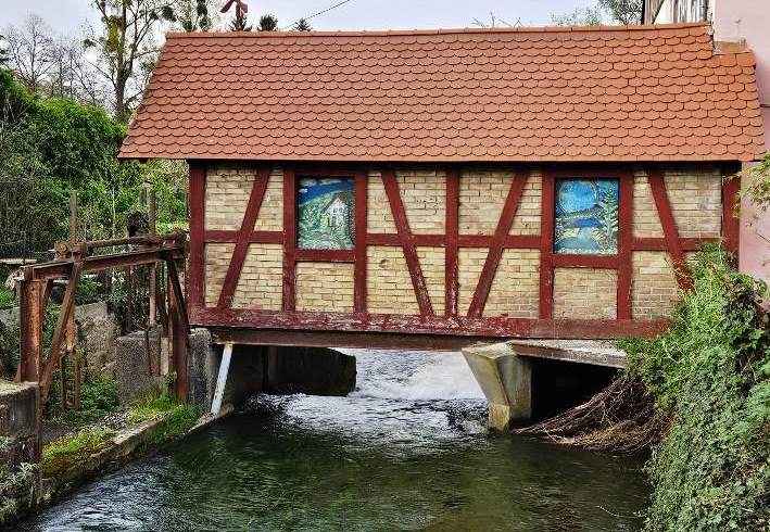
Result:
[[660,251],[635,251],[632,265],[631,317],[669,317],[680,296],[670,255]]

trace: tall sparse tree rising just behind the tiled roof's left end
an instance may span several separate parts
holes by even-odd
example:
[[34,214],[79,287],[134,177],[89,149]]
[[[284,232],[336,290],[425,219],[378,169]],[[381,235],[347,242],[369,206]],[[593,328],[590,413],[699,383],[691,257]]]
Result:
[[101,61],[97,71],[113,90],[115,119],[125,124],[155,63],[155,34],[162,21],[174,21],[168,0],[92,0],[101,15],[99,31],[91,28],[87,47]]

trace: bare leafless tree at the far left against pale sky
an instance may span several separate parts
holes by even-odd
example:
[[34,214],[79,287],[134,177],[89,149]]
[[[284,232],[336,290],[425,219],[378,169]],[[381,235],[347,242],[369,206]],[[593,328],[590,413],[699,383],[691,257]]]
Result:
[[21,29],[5,31],[10,65],[18,81],[33,92],[45,86],[46,76],[53,66],[51,28],[35,14],[27,16]]

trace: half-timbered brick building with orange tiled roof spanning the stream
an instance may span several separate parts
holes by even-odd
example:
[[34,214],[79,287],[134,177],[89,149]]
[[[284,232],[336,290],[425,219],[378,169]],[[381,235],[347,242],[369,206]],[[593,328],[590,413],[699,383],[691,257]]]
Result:
[[[171,34],[121,156],[189,162],[190,319],[219,339],[652,334],[687,254],[739,249],[755,67],[708,24]],[[313,179],[350,185],[350,245],[302,245]]]

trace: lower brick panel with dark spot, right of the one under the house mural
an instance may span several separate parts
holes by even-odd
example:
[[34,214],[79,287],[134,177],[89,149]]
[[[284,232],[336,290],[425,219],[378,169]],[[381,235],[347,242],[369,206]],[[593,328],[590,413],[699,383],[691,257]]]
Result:
[[366,250],[366,301],[374,314],[419,314],[417,297],[401,248]]

